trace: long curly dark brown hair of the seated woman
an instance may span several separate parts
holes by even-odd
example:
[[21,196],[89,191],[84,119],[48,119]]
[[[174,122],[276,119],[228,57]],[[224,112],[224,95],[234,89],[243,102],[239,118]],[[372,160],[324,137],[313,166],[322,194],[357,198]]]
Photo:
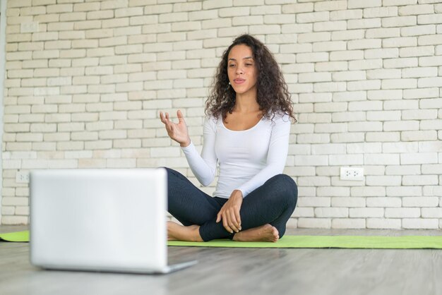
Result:
[[[297,122],[293,114],[287,84],[273,54],[261,41],[248,34],[237,37],[222,54],[222,60],[213,80],[212,90],[208,100],[205,101],[205,114],[211,114],[215,118],[219,118],[221,115],[223,120],[226,119],[227,112],[232,114],[236,92],[229,85],[227,59],[230,50],[239,44],[250,47],[253,60],[256,61],[256,100],[263,116],[267,119],[273,119],[275,113],[285,113],[293,119],[293,122]],[[273,116],[270,118],[270,115]]]

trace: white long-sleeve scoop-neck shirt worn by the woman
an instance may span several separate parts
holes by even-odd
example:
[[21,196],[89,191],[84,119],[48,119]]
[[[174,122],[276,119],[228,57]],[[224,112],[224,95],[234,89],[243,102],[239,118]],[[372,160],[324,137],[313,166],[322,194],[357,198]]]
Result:
[[246,197],[272,176],[281,174],[289,148],[290,120],[287,114],[275,114],[273,122],[263,117],[244,131],[232,131],[222,119],[206,116],[201,155],[191,142],[183,150],[187,162],[203,185],[215,178],[217,163],[220,175],[214,197],[229,198],[232,191]]

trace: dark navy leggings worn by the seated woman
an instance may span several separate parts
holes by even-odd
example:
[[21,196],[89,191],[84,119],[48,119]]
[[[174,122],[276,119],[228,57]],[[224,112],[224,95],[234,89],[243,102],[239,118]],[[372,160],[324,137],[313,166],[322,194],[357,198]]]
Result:
[[[203,241],[233,239],[222,222],[215,222],[218,212],[228,199],[213,198],[193,185],[189,179],[173,169],[167,169],[168,210],[182,224],[198,224]],[[271,224],[285,234],[285,225],[297,204],[298,188],[294,180],[278,174],[246,195],[241,205],[241,229]]]

